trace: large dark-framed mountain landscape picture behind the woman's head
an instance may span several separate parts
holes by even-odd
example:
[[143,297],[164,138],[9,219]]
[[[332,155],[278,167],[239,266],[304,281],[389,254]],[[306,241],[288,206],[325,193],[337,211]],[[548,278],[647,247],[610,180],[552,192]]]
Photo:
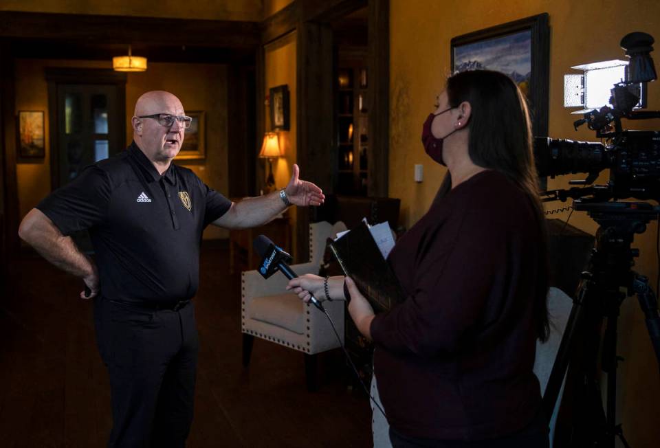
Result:
[[548,17],[544,12],[451,40],[452,73],[483,68],[501,71],[516,81],[527,97],[535,136],[548,135]]

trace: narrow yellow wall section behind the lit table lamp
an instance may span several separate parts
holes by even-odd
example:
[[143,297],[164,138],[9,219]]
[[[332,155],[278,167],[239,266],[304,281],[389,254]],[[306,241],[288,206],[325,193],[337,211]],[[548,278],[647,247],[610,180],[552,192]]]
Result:
[[[266,98],[270,95],[270,88],[279,85],[289,87],[289,131],[280,131],[280,148],[284,151],[285,157],[280,157],[273,161],[273,174],[275,176],[275,187],[277,189],[287,186],[291,179],[292,168],[296,163],[296,32],[292,32],[278,39],[277,41],[266,45],[265,47],[265,85],[264,95]],[[259,112],[259,111],[258,111]],[[270,113],[267,106],[264,105],[262,113],[265,115],[266,131],[270,131]],[[257,163],[263,164],[263,160]],[[267,166],[265,168],[267,173]],[[305,179],[305,173],[301,172],[300,177]],[[309,179],[313,180],[313,179]],[[289,209],[291,216],[292,229],[296,227],[296,208]],[[296,253],[296,232],[292,232],[293,245],[290,247],[292,254]]]

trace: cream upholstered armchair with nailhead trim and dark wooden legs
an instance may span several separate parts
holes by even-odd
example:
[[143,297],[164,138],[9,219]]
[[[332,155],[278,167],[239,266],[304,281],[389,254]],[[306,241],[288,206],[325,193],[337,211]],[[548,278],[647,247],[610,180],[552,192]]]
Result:
[[[318,274],[327,238],[346,230],[339,221],[309,225],[309,262],[292,265],[299,275]],[[241,331],[243,332],[243,366],[248,366],[254,337],[303,352],[307,388],[316,389],[316,355],[340,346],[328,318],[314,305],[305,304],[285,287],[287,278],[280,273],[265,280],[256,271],[243,271],[241,278]],[[344,341],[344,302],[324,302],[339,336]]]

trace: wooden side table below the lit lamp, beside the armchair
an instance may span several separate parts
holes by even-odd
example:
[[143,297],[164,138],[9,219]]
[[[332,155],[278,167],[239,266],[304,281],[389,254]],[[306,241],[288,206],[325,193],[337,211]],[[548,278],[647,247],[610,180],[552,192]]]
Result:
[[285,212],[282,217],[276,218],[252,229],[230,230],[229,232],[229,271],[230,273],[256,269],[261,259],[254,252],[252,243],[254,238],[265,235],[273,243],[291,251],[291,224],[289,214]]

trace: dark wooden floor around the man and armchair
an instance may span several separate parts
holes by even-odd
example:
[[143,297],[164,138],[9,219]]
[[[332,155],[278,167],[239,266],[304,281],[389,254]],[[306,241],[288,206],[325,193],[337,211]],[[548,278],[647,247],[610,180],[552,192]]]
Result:
[[[103,447],[111,428],[107,372],[81,282],[32,254],[0,298],[0,447]],[[195,298],[201,339],[188,447],[370,447],[369,401],[346,386],[338,350],[305,388],[300,352],[255,339],[241,365],[239,275],[228,247],[203,245]]]

